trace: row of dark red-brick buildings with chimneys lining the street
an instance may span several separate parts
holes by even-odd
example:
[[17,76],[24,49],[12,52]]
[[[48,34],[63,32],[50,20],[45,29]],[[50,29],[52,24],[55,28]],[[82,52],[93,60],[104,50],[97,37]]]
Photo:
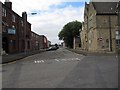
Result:
[[9,0],[1,3],[1,6],[3,51],[11,54],[47,48],[47,38],[31,31],[31,23],[27,21],[26,12],[20,17],[12,10],[12,2]]

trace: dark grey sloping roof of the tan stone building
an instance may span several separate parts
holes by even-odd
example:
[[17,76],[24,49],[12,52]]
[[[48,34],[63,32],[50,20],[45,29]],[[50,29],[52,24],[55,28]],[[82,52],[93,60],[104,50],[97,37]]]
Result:
[[92,2],[97,14],[116,14],[118,2]]

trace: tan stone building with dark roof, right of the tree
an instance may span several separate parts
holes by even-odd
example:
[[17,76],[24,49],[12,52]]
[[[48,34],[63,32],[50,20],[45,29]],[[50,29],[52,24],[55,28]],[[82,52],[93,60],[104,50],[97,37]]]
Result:
[[118,2],[85,3],[84,23],[81,31],[82,49],[102,52],[116,51],[116,13]]

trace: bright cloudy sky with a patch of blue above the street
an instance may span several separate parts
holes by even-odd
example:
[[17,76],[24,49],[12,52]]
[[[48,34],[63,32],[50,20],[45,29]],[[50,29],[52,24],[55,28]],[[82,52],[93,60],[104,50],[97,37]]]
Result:
[[[1,0],[4,3],[5,0]],[[27,12],[32,31],[45,35],[52,44],[60,43],[58,33],[71,21],[82,22],[84,4],[90,0],[10,0],[20,16]],[[95,1],[95,0],[94,0]],[[99,0],[96,0],[99,1]],[[101,0],[100,0],[101,1]],[[105,0],[104,0],[105,1]],[[107,0],[106,0],[107,1]],[[37,14],[31,14],[37,13]]]

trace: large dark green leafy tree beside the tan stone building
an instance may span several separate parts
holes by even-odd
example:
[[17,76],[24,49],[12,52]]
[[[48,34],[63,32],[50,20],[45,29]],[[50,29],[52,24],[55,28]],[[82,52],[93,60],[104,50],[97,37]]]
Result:
[[82,23],[79,21],[72,21],[64,25],[59,32],[58,37],[63,40],[67,47],[73,48],[73,38],[80,35],[79,30],[82,28]]

